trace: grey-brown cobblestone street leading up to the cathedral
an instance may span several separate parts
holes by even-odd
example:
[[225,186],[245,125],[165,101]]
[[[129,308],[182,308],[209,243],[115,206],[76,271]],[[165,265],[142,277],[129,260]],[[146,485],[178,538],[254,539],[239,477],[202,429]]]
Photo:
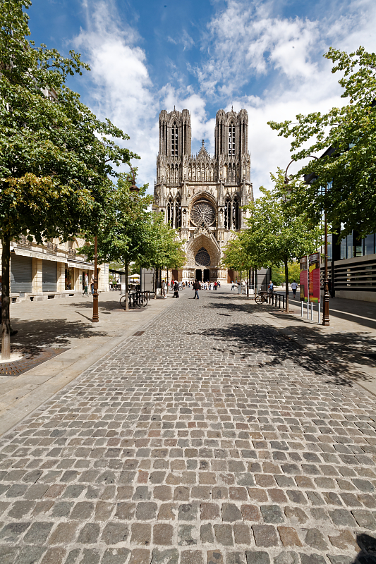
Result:
[[375,562],[375,398],[192,297],[1,439],[1,564]]

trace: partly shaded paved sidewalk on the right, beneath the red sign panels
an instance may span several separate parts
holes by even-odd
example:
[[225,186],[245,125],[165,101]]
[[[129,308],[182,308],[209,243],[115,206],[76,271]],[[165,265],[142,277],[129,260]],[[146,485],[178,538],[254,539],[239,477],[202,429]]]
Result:
[[[317,305],[313,321],[307,319],[306,305],[289,295],[289,310],[270,305],[256,305],[243,298],[244,307],[265,323],[282,331],[296,342],[301,354],[320,357],[323,365],[330,362],[338,368],[337,383],[343,386],[358,384],[376,395],[376,304],[358,300],[329,300],[329,326],[317,323]],[[322,305],[321,305],[322,307]]]

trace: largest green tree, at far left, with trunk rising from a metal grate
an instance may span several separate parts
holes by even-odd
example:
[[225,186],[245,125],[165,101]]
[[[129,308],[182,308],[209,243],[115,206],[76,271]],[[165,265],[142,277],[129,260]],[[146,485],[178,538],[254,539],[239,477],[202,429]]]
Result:
[[28,39],[30,0],[0,1],[0,228],[2,357],[10,355],[10,241],[67,240],[97,223],[113,165],[135,157],[66,86],[89,67]]

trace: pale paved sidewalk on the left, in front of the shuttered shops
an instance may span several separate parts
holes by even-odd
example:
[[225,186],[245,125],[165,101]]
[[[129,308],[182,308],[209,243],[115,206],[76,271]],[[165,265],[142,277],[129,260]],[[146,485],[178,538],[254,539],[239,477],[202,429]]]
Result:
[[147,307],[125,312],[118,292],[99,294],[99,323],[92,323],[92,298],[11,305],[12,349],[68,348],[51,360],[20,374],[0,376],[0,435],[106,355],[116,345],[144,329],[171,304],[150,300]]

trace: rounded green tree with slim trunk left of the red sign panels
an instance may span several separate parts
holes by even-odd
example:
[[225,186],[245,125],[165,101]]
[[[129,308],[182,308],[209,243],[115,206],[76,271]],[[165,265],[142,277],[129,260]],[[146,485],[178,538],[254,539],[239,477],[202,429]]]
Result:
[[263,196],[248,205],[248,229],[243,232],[244,252],[257,264],[267,267],[284,265],[286,312],[289,311],[289,262],[315,252],[322,240],[322,226],[311,223],[307,214],[297,214],[296,207],[280,193],[284,172],[271,175],[274,191],[260,188]]

